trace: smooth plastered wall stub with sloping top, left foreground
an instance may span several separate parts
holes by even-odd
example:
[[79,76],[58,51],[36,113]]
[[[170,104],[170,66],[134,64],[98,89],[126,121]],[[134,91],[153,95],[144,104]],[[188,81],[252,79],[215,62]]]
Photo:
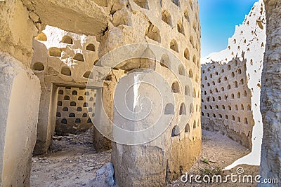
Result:
[[0,53],[0,67],[0,186],[29,186],[37,133],[39,79],[6,53]]

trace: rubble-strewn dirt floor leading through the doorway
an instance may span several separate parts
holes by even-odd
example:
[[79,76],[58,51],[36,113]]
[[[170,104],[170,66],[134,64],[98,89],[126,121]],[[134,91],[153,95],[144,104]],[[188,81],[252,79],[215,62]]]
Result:
[[51,153],[32,158],[30,186],[91,186],[96,170],[110,162],[111,151],[94,150],[91,129],[55,139]]

